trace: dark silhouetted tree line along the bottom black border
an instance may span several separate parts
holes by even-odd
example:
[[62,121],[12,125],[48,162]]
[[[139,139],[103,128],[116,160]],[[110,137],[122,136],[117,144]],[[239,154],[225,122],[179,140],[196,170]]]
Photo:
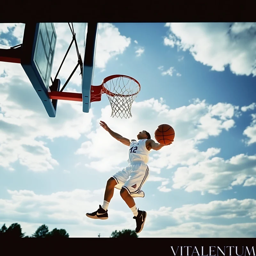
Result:
[[[22,229],[20,227],[20,224],[18,223],[12,223],[9,228],[5,226],[5,224],[0,229],[0,239],[1,238],[26,238],[26,237],[42,237],[42,238],[61,238],[61,237],[69,237],[69,234],[67,231],[63,228],[57,229],[54,228],[52,231],[49,232],[48,227],[43,224],[40,227],[36,229],[36,232],[32,234],[31,236],[25,236],[25,233],[22,233]],[[110,238],[116,238],[116,237],[138,237],[135,230],[131,229],[123,229],[122,231],[113,231],[111,233]]]

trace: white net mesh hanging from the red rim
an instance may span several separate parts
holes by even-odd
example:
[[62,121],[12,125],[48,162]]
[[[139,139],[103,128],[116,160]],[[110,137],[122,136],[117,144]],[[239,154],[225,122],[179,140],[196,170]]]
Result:
[[132,77],[118,76],[103,83],[112,108],[111,116],[129,118],[132,116],[132,102],[140,92],[140,84]]

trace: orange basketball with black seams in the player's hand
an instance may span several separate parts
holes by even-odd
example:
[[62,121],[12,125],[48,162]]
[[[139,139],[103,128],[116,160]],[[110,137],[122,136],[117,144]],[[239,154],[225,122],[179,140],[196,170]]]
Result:
[[168,145],[174,139],[175,132],[171,125],[161,124],[157,126],[155,131],[155,139],[158,143]]

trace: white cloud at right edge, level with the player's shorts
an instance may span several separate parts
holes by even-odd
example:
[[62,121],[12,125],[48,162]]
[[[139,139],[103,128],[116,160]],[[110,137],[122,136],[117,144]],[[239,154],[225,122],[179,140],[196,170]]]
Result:
[[256,156],[240,154],[228,160],[213,157],[196,165],[179,167],[173,175],[172,187],[217,195],[223,190],[242,185],[246,178],[256,177],[255,170]]

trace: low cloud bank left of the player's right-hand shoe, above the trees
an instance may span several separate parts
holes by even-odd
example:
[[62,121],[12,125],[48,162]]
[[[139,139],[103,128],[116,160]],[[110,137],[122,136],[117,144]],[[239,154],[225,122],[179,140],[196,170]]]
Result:
[[[105,223],[94,223],[85,216],[86,212],[94,211],[102,204],[104,189],[75,189],[47,195],[36,194],[31,190],[8,190],[8,194],[10,199],[0,199],[0,223],[23,223],[22,229],[29,235],[42,224],[53,228],[67,226],[71,237],[77,237],[81,229],[82,237],[90,237],[92,230],[100,233],[104,231],[110,236],[115,228],[122,230],[122,226],[127,226],[132,229],[135,225],[132,213],[120,209],[111,209],[111,216]],[[117,196],[121,198],[114,193],[114,199]]]

